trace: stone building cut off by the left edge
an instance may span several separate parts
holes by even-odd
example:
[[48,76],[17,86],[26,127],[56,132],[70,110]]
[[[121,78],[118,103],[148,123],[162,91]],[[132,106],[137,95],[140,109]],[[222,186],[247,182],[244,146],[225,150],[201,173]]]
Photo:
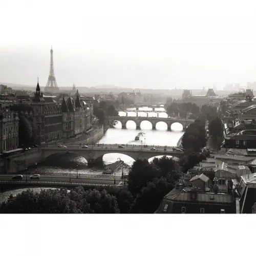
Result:
[[9,109],[0,110],[0,152],[18,148],[18,114]]

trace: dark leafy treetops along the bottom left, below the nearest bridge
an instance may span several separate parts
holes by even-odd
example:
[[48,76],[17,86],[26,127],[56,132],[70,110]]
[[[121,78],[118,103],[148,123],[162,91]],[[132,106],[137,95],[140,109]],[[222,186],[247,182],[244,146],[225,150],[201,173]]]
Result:
[[10,196],[0,205],[2,214],[118,214],[117,200],[105,190],[87,190],[77,187],[44,189],[40,193],[30,189],[16,197]]

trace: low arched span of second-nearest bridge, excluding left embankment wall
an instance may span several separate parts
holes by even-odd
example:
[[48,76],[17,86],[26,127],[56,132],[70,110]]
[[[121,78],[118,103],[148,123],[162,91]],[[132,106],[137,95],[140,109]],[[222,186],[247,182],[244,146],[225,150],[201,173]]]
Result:
[[[67,145],[66,145],[67,146]],[[88,162],[102,162],[102,158],[105,154],[109,153],[119,153],[126,156],[130,156],[134,160],[145,158],[150,159],[156,156],[175,156],[181,157],[184,153],[182,151],[174,151],[173,148],[159,147],[152,150],[151,147],[131,147],[123,146],[119,148],[117,145],[113,144],[112,146],[90,146],[88,148],[82,148],[79,146],[67,146],[67,148],[60,147],[45,147],[41,149],[42,157],[46,159],[54,154],[70,154],[73,153],[77,156],[84,157]]]

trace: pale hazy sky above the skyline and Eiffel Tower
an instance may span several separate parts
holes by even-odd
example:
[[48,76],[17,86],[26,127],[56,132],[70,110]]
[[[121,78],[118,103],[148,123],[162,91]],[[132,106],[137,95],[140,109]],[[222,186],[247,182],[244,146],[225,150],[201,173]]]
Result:
[[[256,4],[256,3],[255,3]],[[198,88],[256,81],[253,1],[1,1],[0,82]]]

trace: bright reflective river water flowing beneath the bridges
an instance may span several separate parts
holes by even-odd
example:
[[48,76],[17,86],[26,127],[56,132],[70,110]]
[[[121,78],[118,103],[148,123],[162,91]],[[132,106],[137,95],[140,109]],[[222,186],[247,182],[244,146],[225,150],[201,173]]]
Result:
[[[132,110],[132,109],[131,109]],[[140,110],[150,111],[152,109],[150,108],[140,108]],[[165,110],[163,108],[156,109],[156,111],[162,111],[162,113],[158,113],[159,117],[167,117],[167,114],[165,113]],[[139,112],[138,116],[146,116],[145,112]],[[119,112],[120,116],[125,116],[124,112]],[[136,116],[135,112],[128,112],[128,116]],[[157,116],[154,112],[148,112],[149,117],[155,117]],[[156,130],[152,130],[152,124],[149,121],[143,121],[141,123],[140,130],[136,130],[136,124],[133,121],[128,121],[126,124],[126,129],[122,129],[121,123],[117,123],[114,128],[110,128],[99,141],[99,143],[104,144],[146,144],[146,145],[166,145],[166,146],[176,146],[178,140],[183,135],[182,132],[182,125],[179,123],[174,123],[171,127],[172,131],[167,131],[167,125],[165,122],[158,122],[156,125]],[[140,132],[143,131],[145,133],[144,140],[136,141],[135,136]],[[87,167],[87,161],[83,157],[73,156],[72,161],[75,162],[73,168],[63,168],[58,166],[58,162],[61,160],[56,159],[56,162],[54,164],[49,165],[48,163],[42,164],[40,166],[37,166],[37,173],[52,173],[52,172],[58,172],[58,173],[90,173],[90,174],[102,174],[102,171],[104,169],[104,165],[113,163],[120,158],[124,161],[124,167],[123,169],[120,169],[116,172],[116,175],[121,175],[122,171],[124,174],[127,174],[129,172],[129,169],[131,165],[133,164],[134,160],[126,155],[123,154],[117,154],[117,153],[111,153],[111,154],[105,154],[103,156],[103,165],[102,166],[95,166],[95,167]],[[151,159],[150,159],[151,160]],[[77,163],[79,163],[79,167],[77,166]],[[82,166],[81,166],[82,165]],[[30,169],[29,172],[33,173],[35,172],[35,169]],[[15,189],[13,190],[13,194],[17,194],[22,190],[26,189]],[[4,195],[3,195],[4,194]],[[0,202],[3,200],[3,198],[7,198],[10,195],[10,191],[0,194]],[[1,200],[2,198],[2,200]]]

